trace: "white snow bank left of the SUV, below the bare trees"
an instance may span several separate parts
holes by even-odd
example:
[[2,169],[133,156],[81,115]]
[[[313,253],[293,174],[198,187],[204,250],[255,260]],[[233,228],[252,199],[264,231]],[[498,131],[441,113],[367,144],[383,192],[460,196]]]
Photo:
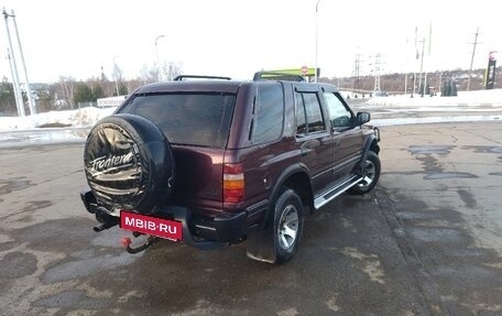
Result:
[[72,128],[91,127],[100,119],[111,115],[111,108],[83,108],[69,111],[51,111],[29,117],[0,117],[0,131],[33,130],[46,124],[61,124]]

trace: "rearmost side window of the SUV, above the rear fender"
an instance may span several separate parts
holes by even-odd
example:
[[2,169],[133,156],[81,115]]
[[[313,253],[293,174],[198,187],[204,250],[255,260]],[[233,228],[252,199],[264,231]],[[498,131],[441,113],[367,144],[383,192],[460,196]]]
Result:
[[284,121],[284,94],[281,84],[258,86],[251,141],[266,143],[281,137]]

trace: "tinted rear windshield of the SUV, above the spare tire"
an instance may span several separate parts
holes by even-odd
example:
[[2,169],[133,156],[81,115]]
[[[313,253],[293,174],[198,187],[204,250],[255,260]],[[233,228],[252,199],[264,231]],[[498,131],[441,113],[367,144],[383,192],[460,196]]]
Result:
[[171,143],[223,149],[234,103],[231,94],[154,94],[137,96],[120,112],[151,120]]

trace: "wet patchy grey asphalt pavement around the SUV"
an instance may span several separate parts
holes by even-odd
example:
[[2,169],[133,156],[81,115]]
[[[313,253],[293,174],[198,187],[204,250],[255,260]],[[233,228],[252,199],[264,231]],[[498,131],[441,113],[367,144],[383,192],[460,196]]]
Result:
[[83,144],[0,149],[2,315],[501,315],[500,122],[382,128],[382,176],[307,216],[281,266],[245,244],[95,233]]

